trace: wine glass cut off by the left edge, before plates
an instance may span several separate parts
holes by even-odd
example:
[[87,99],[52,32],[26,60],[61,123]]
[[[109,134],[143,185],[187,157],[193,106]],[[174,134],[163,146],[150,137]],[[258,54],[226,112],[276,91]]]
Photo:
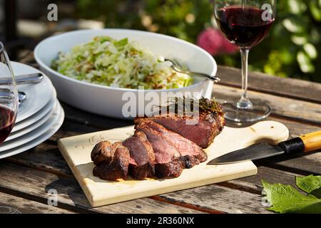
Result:
[[18,91],[9,57],[0,42],[0,144],[11,133],[18,109]]

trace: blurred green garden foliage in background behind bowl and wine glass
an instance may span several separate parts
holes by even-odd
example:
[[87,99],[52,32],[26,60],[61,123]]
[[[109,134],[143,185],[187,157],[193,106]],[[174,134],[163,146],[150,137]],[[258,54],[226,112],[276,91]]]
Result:
[[[210,0],[78,0],[77,14],[105,21],[108,28],[134,28],[195,43],[213,26]],[[240,57],[215,56],[219,64],[240,67]],[[321,0],[277,1],[269,36],[250,53],[250,69],[321,82]]]

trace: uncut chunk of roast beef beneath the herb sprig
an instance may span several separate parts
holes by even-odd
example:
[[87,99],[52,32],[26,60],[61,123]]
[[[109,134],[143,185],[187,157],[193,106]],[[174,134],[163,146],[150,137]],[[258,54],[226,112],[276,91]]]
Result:
[[224,128],[225,119],[223,113],[200,113],[198,123],[186,124],[191,117],[177,115],[155,116],[151,118],[136,118],[135,123],[140,124],[146,120],[163,125],[168,130],[182,135],[184,138],[195,142],[202,148],[207,148]]

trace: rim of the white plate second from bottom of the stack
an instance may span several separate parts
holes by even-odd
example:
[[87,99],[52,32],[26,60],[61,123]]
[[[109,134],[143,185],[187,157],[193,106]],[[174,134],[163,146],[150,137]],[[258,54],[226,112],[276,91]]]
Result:
[[41,125],[39,128],[36,128],[30,133],[27,133],[26,135],[22,135],[19,138],[2,143],[0,145],[0,152],[24,145],[28,142],[31,142],[35,138],[38,138],[40,135],[46,133],[47,130],[49,130],[53,125],[56,125],[56,123],[58,123],[61,110],[62,110],[61,105],[58,105],[58,108],[54,111],[54,113],[51,115],[49,120],[47,120],[46,123]]

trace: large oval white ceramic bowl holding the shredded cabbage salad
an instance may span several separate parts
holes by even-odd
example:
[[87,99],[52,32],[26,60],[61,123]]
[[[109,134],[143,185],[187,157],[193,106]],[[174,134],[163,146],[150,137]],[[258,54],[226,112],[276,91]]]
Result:
[[[128,118],[123,113],[123,107],[128,104],[128,100],[123,100],[126,92],[136,96],[138,101],[145,106],[149,101],[144,102],[142,96],[138,96],[138,91],[127,88],[113,88],[110,86],[100,86],[73,78],[63,76],[51,69],[51,62],[57,58],[59,51],[70,51],[73,46],[80,43],[86,43],[94,36],[111,36],[112,38],[128,38],[130,41],[138,41],[141,46],[148,48],[156,54],[156,56],[164,56],[165,58],[173,58],[180,63],[184,63],[190,71],[198,71],[208,73],[215,76],[217,65],[210,54],[202,48],[182,41],[178,38],[165,36],[158,33],[150,33],[146,31],[135,31],[128,29],[98,29],[98,30],[78,30],[68,33],[62,33],[57,36],[51,36],[39,43],[34,50],[34,57],[43,71],[54,84],[58,98],[69,105],[73,105],[81,110],[91,113],[106,115],[114,118]],[[155,92],[161,98],[161,92],[198,92],[198,96],[210,98],[213,90],[213,82],[202,79],[195,79],[192,86],[171,90],[144,90],[147,92]],[[141,93],[141,92],[140,92]],[[188,95],[188,94],[187,94]],[[132,100],[133,101],[133,100]],[[163,104],[164,100],[161,100]],[[153,100],[153,105],[159,105],[159,100]],[[151,103],[150,103],[151,105]],[[141,108],[131,110],[135,115],[143,114]],[[148,114],[148,113],[145,113]]]

